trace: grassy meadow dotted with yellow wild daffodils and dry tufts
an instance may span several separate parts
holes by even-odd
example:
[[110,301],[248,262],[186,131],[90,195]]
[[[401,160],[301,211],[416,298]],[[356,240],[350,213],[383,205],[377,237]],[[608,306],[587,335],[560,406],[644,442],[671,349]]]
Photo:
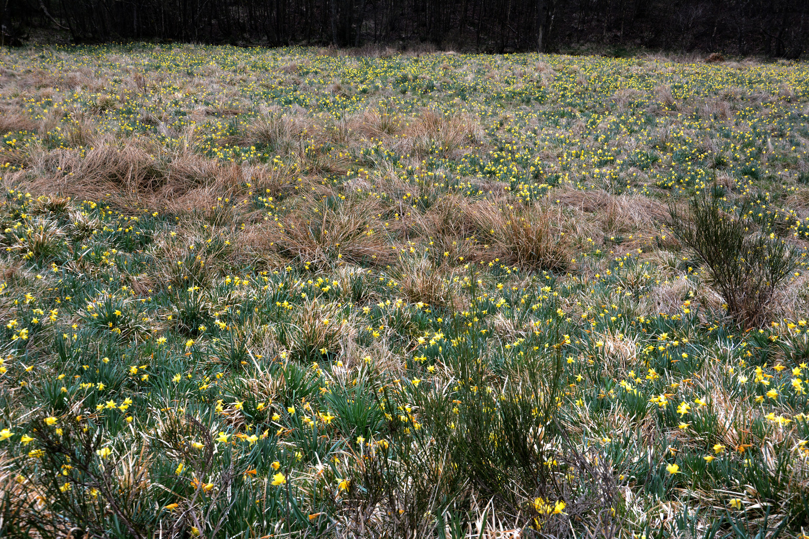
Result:
[[0,50],[0,536],[809,533],[809,65]]

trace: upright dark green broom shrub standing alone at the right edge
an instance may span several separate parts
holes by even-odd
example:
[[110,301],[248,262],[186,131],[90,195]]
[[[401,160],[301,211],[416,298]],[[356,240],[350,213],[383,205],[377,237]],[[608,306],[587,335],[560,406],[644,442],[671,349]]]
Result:
[[728,314],[745,327],[763,326],[773,295],[798,267],[798,252],[772,234],[752,232],[715,196],[694,198],[689,208],[685,216],[671,207],[674,234],[705,266]]

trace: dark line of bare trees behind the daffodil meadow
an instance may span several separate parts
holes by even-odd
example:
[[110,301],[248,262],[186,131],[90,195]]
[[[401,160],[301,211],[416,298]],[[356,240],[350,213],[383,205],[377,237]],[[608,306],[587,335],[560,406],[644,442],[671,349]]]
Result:
[[492,53],[598,44],[799,57],[809,49],[809,0],[0,0],[0,29],[3,44],[56,31],[76,43],[427,43]]

